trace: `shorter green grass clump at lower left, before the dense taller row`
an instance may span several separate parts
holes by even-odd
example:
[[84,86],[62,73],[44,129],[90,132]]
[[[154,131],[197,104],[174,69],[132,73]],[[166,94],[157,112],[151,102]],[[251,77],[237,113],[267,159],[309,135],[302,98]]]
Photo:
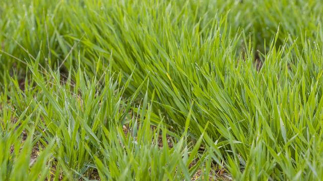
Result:
[[[29,62],[28,67],[30,75],[26,76],[25,89],[20,90],[17,79],[12,78],[1,95],[6,98],[1,101],[4,106],[11,102],[10,109],[3,109],[1,138],[3,151],[7,152],[4,155],[10,160],[5,157],[1,163],[14,163],[12,171],[3,170],[3,179],[86,180],[95,172],[102,180],[189,179],[198,165],[204,163],[205,156],[197,151],[202,139],[190,151],[192,143],[186,134],[174,135],[173,146],[168,147],[166,133],[173,133],[161,129],[162,124],[152,130],[151,121],[157,122],[158,116],[152,111],[148,95],[139,106],[134,104],[144,83],[127,98],[123,93],[131,77],[121,87],[121,74],[112,74],[109,69],[98,80],[84,76],[81,68],[71,70],[68,79],[62,82],[59,72],[40,73],[35,62]],[[15,115],[19,119],[14,123]],[[126,124],[131,131],[125,134],[122,127]],[[21,140],[22,131],[27,134],[26,141]],[[160,148],[159,141],[166,146]],[[30,161],[31,149],[37,143],[44,147],[35,159],[37,162],[21,165]],[[10,154],[18,155],[17,159],[9,154],[11,145],[14,153]],[[199,157],[196,167],[189,169]],[[19,163],[16,171],[15,164]],[[14,174],[22,171],[30,172],[32,177]]]

